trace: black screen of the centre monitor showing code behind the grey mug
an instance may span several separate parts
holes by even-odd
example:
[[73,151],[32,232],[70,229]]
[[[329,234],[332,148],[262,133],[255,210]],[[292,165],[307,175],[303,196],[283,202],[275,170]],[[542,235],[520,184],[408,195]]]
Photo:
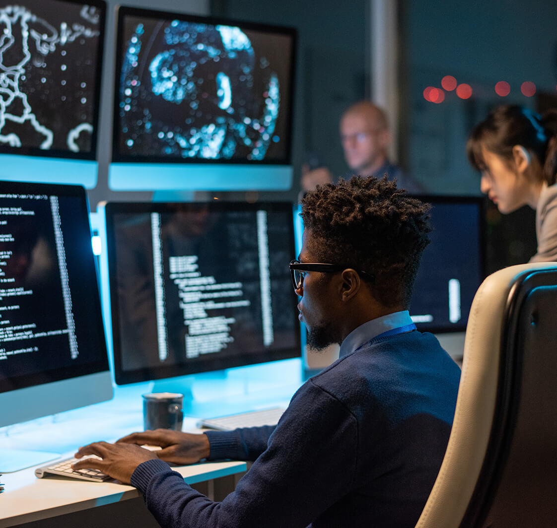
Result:
[[105,206],[118,384],[300,356],[290,203]]

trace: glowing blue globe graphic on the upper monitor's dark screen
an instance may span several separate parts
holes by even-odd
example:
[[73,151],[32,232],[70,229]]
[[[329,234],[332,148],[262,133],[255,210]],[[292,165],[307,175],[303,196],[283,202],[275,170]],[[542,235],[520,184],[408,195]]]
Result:
[[285,36],[131,16],[124,27],[116,151],[176,161],[285,157]]

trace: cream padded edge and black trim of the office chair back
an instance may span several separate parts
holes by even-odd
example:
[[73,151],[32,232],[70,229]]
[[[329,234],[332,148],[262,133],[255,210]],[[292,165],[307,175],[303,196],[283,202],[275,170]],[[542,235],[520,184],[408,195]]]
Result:
[[[478,289],[468,321],[455,423],[417,528],[469,528],[486,522],[521,402],[525,334],[519,329],[525,328],[524,317],[536,322],[535,314],[524,311],[525,301],[548,285],[557,288],[557,263],[511,266],[487,277]],[[497,320],[499,332],[490,327]]]

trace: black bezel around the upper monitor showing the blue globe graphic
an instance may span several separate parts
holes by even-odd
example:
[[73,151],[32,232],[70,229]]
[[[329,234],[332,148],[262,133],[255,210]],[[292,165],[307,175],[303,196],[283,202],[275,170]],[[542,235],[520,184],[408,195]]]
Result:
[[[120,73],[123,63],[123,46],[124,46],[124,18],[126,16],[137,16],[145,18],[158,18],[164,20],[179,19],[184,22],[203,23],[207,25],[224,25],[237,26],[241,29],[254,30],[261,32],[283,33],[289,36],[292,41],[292,50],[290,56],[290,86],[288,87],[289,107],[286,115],[286,134],[288,136],[286,151],[283,159],[275,160],[248,160],[248,159],[205,159],[205,158],[187,158],[179,159],[177,157],[165,157],[155,155],[131,155],[120,152],[119,148],[119,87]],[[297,46],[297,30],[294,27],[275,26],[259,22],[247,22],[226,17],[200,16],[188,13],[179,13],[171,11],[157,11],[155,9],[143,9],[138,7],[118,6],[116,12],[116,47],[115,47],[115,70],[114,70],[114,92],[113,92],[113,134],[112,134],[112,158],[113,163],[171,163],[178,165],[192,164],[225,164],[225,165],[291,165],[292,163],[292,131],[294,128],[294,94],[295,94],[295,73],[296,73],[296,46]]]

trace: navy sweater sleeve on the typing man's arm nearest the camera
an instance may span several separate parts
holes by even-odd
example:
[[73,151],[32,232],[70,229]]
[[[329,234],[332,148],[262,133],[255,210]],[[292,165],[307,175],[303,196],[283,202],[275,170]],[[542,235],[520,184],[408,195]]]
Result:
[[310,380],[222,502],[193,490],[162,461],[141,464],[132,483],[167,528],[304,528],[353,486],[357,439],[353,415]]

